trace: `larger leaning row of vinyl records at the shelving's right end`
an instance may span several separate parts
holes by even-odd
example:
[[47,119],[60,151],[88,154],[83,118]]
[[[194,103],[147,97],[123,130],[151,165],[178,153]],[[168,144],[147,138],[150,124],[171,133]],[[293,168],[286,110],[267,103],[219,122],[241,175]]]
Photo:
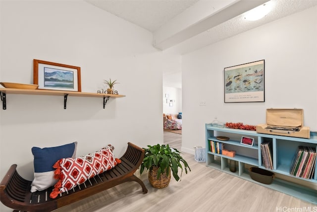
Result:
[[312,147],[299,146],[293,159],[290,174],[306,179],[312,179],[315,172],[316,150]]

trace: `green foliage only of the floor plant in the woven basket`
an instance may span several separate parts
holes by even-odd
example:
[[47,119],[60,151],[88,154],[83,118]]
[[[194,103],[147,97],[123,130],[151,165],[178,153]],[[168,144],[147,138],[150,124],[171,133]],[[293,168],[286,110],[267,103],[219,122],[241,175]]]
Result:
[[[187,169],[190,170],[188,163],[180,155],[181,153],[174,148],[170,148],[167,145],[148,145],[148,148],[143,148],[145,150],[145,156],[141,164],[140,173],[142,174],[144,169],[152,170],[154,166],[157,166],[158,169],[158,179],[161,173],[166,171],[166,174],[169,173],[169,167],[172,171],[173,177],[176,181],[181,179],[183,169],[187,174]],[[182,165],[183,163],[183,165]],[[181,174],[178,176],[178,167],[181,168]]]

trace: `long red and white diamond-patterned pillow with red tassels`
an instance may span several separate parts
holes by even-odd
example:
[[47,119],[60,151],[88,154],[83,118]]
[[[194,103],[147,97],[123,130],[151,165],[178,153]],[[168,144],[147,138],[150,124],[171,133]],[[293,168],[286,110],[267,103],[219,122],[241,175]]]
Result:
[[58,181],[54,185],[50,197],[54,199],[58,194],[69,191],[120,163],[120,159],[114,158],[112,150],[112,146],[109,145],[93,154],[75,159],[64,158],[57,160],[53,167],[56,168],[54,178]]

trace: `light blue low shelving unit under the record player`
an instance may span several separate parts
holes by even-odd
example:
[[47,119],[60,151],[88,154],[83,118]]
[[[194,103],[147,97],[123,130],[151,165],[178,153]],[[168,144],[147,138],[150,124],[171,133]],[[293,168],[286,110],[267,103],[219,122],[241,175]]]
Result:
[[[221,141],[216,139],[216,136],[226,136],[230,139]],[[254,145],[241,144],[242,136],[254,138]],[[235,157],[231,158],[212,153],[209,149],[211,141],[223,143],[227,150],[235,150]],[[248,168],[252,166],[266,169],[261,153],[261,144],[265,141],[270,141],[272,144],[273,169],[267,170],[274,172],[278,176],[269,185],[254,181],[248,172]],[[317,162],[315,163],[313,179],[304,179],[289,174],[291,163],[299,146],[309,146],[317,150],[317,132],[311,131],[311,138],[305,139],[262,134],[248,130],[218,128],[212,127],[212,124],[206,124],[207,166],[317,205]],[[229,159],[236,161],[237,172],[229,170]]]

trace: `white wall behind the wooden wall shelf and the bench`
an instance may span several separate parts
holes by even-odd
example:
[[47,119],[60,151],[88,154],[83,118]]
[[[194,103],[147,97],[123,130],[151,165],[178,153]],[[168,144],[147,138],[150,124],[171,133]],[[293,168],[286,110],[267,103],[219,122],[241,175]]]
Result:
[[0,81],[33,83],[36,58],[80,66],[83,92],[97,93],[111,77],[126,95],[106,109],[102,98],[68,97],[63,109],[63,97],[7,95],[7,109],[0,109],[1,179],[12,163],[33,178],[33,146],[78,141],[81,156],[110,143],[120,157],[128,141],[163,142],[161,52],[150,32],[79,0],[1,0],[0,9]]

